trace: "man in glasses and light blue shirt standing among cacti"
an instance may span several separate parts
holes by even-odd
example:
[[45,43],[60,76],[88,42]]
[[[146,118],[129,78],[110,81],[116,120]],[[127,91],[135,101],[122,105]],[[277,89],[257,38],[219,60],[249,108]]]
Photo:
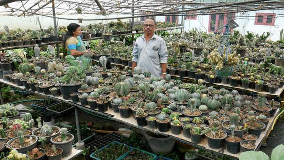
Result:
[[137,38],[133,48],[132,70],[138,66],[152,75],[165,77],[168,63],[166,42],[154,34],[156,22],[153,19],[145,20],[143,30],[143,36]]

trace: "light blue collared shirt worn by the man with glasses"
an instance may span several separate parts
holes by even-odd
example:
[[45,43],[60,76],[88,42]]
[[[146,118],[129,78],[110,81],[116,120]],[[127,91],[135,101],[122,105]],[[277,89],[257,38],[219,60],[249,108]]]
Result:
[[146,42],[145,36],[137,38],[133,52],[132,61],[137,62],[143,72],[150,71],[152,75],[160,77],[162,67],[160,63],[168,63],[168,50],[163,38],[153,35]]

